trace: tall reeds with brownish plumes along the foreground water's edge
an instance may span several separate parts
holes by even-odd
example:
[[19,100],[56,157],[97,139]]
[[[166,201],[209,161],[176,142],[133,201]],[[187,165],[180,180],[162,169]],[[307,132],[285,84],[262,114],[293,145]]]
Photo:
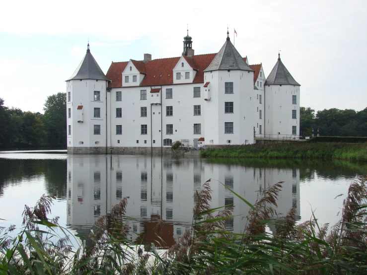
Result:
[[[195,195],[192,229],[165,252],[154,244],[144,252],[128,240],[123,222],[128,198],[96,222],[88,236],[93,245],[84,241],[74,249],[57,219],[47,217],[52,198],[43,196],[35,207],[26,206],[15,238],[8,234],[13,227],[3,229],[0,274],[367,274],[366,184],[367,176],[351,184],[341,219],[329,234],[328,224],[319,225],[314,216],[296,225],[294,209],[277,221],[271,218],[282,182],[264,190],[254,205],[225,187],[250,206],[244,233],[236,234],[226,230],[233,206],[209,207],[209,180]],[[268,232],[269,224],[276,233]]]

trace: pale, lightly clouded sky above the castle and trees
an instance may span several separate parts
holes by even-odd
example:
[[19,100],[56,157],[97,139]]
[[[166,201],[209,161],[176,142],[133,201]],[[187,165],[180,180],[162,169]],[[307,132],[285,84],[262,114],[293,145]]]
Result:
[[366,0],[19,0],[1,9],[0,98],[8,107],[43,113],[48,96],[66,91],[88,40],[107,73],[112,61],[145,53],[181,56],[187,24],[196,55],[217,53],[228,26],[237,51],[266,76],[280,50],[301,84],[301,106],[367,107]]

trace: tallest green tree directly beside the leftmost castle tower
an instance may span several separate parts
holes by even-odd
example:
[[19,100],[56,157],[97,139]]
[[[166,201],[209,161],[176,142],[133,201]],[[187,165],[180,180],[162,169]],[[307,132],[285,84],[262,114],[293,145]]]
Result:
[[47,142],[50,146],[66,146],[66,93],[48,96],[43,110]]

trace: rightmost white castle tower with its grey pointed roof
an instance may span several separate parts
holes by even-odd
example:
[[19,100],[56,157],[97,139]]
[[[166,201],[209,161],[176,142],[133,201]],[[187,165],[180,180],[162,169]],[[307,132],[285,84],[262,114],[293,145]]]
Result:
[[265,134],[295,138],[299,135],[299,87],[278,61],[265,82]]

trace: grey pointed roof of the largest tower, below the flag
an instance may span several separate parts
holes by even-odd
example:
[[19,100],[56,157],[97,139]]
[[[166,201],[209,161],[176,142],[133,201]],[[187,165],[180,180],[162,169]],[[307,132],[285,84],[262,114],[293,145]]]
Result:
[[230,42],[228,31],[227,39],[223,47],[221,47],[212,63],[204,71],[221,69],[240,69],[253,71],[253,69],[246,64],[241,55],[237,52],[236,48],[234,48],[232,42]]

